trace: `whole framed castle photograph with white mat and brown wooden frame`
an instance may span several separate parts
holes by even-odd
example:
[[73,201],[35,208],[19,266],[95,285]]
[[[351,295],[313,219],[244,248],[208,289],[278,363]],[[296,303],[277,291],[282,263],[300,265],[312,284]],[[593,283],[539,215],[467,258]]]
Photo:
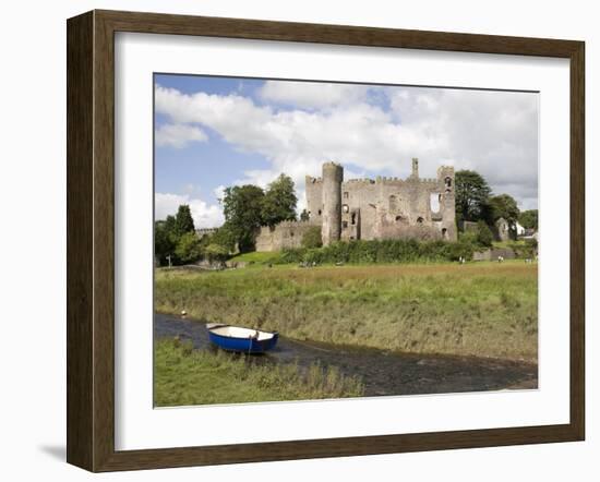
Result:
[[584,43],[68,21],[68,461],[581,441]]

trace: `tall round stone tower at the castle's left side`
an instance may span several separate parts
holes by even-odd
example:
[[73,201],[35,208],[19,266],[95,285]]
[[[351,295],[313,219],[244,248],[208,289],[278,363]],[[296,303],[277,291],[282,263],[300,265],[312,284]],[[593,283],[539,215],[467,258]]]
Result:
[[341,181],[344,168],[335,162],[323,165],[323,245],[339,241],[341,233]]

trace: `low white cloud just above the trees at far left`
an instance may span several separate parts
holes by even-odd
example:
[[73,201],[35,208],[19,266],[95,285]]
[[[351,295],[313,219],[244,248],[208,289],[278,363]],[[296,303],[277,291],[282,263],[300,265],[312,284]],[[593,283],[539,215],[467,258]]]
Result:
[[155,193],[155,219],[165,219],[168,215],[175,215],[181,204],[188,204],[190,206],[196,228],[217,228],[221,226],[225,220],[220,206],[208,204],[201,198],[194,198],[188,194],[181,195],[170,193]]

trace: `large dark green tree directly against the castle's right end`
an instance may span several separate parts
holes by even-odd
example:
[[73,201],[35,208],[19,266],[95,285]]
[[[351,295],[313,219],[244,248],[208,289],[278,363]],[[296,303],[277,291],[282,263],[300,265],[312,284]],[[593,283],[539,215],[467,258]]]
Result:
[[476,171],[460,170],[455,176],[457,221],[477,221],[485,214],[490,189],[488,181]]

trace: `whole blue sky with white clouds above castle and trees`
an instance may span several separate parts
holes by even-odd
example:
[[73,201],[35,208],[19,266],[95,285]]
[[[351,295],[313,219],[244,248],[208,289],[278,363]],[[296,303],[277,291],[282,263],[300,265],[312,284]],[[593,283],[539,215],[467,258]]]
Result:
[[296,182],[322,162],[345,178],[422,177],[442,165],[481,172],[496,193],[537,207],[538,95],[156,74],[158,219],[190,204],[196,227],[223,222],[224,186]]

